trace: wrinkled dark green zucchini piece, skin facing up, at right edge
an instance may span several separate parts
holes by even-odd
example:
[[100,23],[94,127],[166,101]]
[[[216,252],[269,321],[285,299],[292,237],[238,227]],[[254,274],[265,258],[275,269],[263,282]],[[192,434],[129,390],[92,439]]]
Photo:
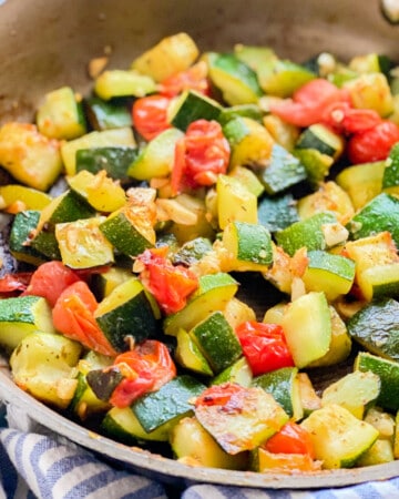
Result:
[[349,335],[367,350],[399,360],[399,303],[392,298],[372,302],[349,320]]

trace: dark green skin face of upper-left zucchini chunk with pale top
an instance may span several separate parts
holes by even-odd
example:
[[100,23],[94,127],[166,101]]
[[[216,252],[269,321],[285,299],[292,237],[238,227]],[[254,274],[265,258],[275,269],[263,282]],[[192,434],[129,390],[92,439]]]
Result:
[[105,170],[114,180],[126,182],[127,169],[136,159],[136,147],[91,147],[76,151],[76,173],[86,170],[90,173],[99,173]]

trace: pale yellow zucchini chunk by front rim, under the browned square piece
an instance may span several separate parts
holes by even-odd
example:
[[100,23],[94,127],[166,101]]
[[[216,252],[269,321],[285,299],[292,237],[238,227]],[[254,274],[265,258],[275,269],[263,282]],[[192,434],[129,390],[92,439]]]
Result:
[[183,418],[175,425],[170,437],[172,450],[182,462],[197,466],[241,470],[247,465],[247,455],[227,454],[194,417]]

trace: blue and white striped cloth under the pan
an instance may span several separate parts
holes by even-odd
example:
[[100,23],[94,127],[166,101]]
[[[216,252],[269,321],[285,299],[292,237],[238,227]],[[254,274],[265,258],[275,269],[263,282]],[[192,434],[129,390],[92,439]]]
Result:
[[[11,411],[12,413],[12,411]],[[16,416],[16,415],[13,415]],[[119,470],[53,434],[25,431],[28,418],[0,420],[0,499],[166,499],[177,492],[162,483]],[[22,421],[22,425],[21,425]],[[18,471],[17,471],[18,470]],[[182,499],[383,499],[399,498],[399,477],[329,490],[258,490],[197,485]]]

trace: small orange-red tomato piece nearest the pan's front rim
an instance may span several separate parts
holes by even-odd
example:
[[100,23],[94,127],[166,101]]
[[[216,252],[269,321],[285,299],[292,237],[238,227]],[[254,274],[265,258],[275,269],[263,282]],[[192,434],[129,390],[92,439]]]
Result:
[[304,454],[313,459],[315,449],[309,432],[296,422],[287,422],[263,447],[275,454]]

